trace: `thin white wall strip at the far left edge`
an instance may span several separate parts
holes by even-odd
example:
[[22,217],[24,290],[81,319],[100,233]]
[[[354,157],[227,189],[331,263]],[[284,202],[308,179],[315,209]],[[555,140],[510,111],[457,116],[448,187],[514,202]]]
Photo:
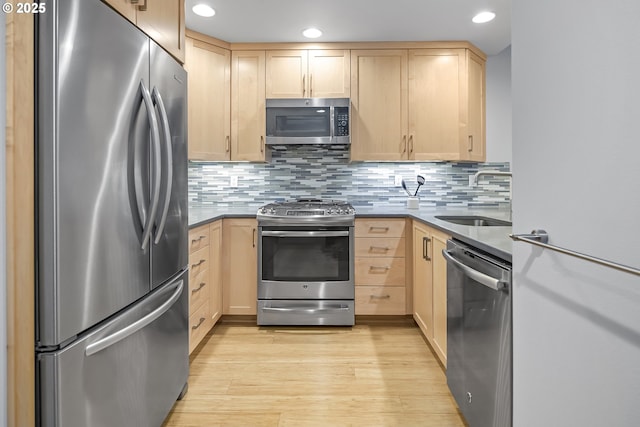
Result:
[[5,206],[5,17],[0,20],[0,427],[7,425],[7,309]]

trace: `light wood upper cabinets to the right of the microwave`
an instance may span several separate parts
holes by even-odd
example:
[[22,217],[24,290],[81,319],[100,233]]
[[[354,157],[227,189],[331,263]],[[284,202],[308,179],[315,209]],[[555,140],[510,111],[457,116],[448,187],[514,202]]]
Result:
[[485,160],[485,64],[469,49],[351,52],[352,160]]

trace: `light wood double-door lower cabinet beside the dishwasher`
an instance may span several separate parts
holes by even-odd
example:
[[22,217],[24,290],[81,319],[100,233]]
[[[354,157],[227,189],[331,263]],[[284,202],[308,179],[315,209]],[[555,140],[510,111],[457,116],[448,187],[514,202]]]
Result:
[[413,222],[413,318],[447,366],[447,234]]

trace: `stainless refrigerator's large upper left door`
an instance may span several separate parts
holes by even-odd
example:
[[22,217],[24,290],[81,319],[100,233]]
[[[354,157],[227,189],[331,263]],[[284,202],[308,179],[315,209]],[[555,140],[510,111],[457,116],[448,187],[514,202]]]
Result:
[[148,38],[101,1],[53,6],[37,18],[41,346],[147,294],[151,269]]

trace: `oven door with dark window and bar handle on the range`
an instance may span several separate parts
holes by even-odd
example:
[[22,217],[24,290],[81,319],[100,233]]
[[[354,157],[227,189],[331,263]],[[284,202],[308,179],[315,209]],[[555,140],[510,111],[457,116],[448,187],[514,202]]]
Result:
[[258,299],[353,299],[353,227],[259,227]]

